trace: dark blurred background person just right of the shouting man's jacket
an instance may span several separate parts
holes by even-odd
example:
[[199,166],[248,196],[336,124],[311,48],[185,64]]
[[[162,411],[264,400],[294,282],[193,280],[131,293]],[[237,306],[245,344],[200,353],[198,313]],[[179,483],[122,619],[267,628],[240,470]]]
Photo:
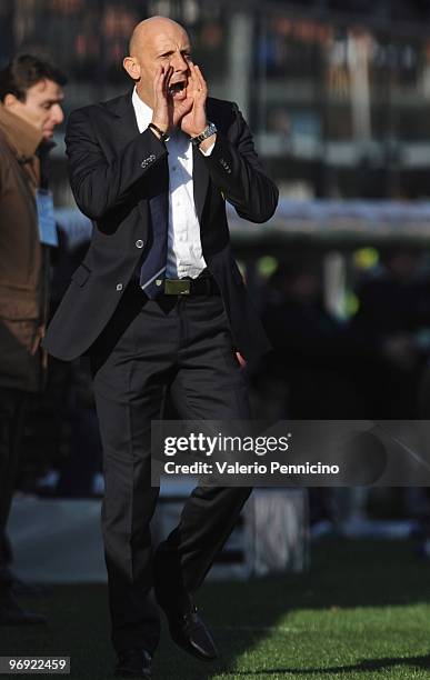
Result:
[[298,253],[280,264],[269,281],[263,323],[273,352],[262,373],[286,383],[284,418],[360,417],[361,348],[324,308],[321,259]]

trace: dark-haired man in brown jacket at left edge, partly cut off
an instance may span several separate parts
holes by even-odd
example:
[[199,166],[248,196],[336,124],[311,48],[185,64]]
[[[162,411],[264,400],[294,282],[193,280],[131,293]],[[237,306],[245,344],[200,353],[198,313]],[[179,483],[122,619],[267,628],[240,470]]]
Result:
[[56,244],[46,160],[62,122],[64,76],[22,54],[0,71],[0,624],[41,623],[4,568],[6,527],[26,400],[43,389],[49,249]]

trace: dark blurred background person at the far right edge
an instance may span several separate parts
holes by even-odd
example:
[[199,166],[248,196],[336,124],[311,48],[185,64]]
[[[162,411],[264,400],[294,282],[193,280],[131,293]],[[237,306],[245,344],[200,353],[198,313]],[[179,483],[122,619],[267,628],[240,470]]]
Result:
[[362,362],[367,411],[363,418],[418,417],[419,386],[429,357],[430,298],[422,252],[394,247],[382,268],[362,281],[351,332],[367,348]]

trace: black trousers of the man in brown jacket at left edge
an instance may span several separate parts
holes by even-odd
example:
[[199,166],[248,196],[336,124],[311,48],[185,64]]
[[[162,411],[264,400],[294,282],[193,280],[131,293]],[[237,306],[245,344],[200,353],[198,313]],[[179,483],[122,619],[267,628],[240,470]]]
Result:
[[27,392],[0,388],[0,590],[9,584],[10,544],[6,528],[20,463]]

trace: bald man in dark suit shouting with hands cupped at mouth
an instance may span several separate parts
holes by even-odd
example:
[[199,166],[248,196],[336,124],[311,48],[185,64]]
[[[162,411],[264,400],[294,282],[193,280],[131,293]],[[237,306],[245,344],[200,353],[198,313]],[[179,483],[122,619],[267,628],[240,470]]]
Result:
[[208,98],[182,27],[142,21],[123,66],[132,92],[69,119],[71,187],[94,231],[44,344],[64,360],[90,354],[117,672],[149,677],[159,638],[152,586],[173,640],[198,658],[217,656],[191,596],[250,493],[198,487],[152,557],[151,420],[167,390],[182,418],[249,418],[236,351],[257,357],[268,341],[231,253],[226,200],[264,222],[278,190],[238,107]]

